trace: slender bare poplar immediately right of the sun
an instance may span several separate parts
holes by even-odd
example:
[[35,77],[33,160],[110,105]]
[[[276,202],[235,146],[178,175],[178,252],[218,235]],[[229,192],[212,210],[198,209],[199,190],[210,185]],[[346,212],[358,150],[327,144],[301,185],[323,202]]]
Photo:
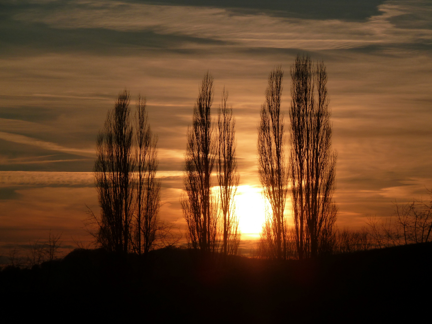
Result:
[[272,224],[269,228],[274,231],[277,259],[286,257],[284,210],[288,190],[283,112],[280,111],[282,79],[281,67],[269,74],[266,102],[261,105],[257,143],[258,175],[271,207],[269,222]]

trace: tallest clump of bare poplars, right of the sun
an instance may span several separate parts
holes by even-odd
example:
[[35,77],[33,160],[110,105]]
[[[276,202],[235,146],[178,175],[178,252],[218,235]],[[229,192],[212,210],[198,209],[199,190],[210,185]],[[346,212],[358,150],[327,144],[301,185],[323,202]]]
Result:
[[[259,240],[259,254],[282,259],[331,253],[338,208],[333,202],[337,154],[331,147],[327,72],[297,55],[291,67],[289,162],[285,162],[283,112],[280,111],[283,71],[270,73],[266,102],[258,125],[258,174],[270,205]],[[314,94],[316,87],[317,95]],[[315,98],[316,97],[316,98]],[[284,217],[288,183],[294,232]],[[297,253],[293,253],[294,234]]]

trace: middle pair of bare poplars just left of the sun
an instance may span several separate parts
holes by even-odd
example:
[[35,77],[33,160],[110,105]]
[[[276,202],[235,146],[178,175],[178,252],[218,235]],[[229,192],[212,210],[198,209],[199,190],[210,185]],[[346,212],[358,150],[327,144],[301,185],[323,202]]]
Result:
[[[227,105],[228,91],[222,91],[217,128],[211,117],[213,76],[204,76],[194,106],[192,127],[187,129],[184,154],[184,191],[180,199],[186,220],[189,247],[203,252],[236,254],[240,243],[234,196],[239,175],[235,153],[235,118]],[[216,164],[218,193],[212,192],[212,172]]]

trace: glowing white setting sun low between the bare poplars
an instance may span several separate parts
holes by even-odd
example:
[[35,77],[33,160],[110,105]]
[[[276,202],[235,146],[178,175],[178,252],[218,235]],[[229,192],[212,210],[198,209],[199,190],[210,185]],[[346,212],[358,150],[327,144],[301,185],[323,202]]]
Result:
[[235,211],[242,238],[257,238],[265,221],[265,200],[262,189],[249,185],[238,186],[235,195]]

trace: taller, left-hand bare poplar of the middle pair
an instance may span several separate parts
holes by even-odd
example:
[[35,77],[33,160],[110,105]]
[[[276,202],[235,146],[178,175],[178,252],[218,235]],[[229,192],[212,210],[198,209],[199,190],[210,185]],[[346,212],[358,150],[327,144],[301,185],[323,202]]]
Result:
[[217,213],[211,192],[216,153],[210,111],[213,92],[213,76],[207,72],[194,105],[192,127],[187,129],[183,176],[185,194],[180,200],[187,224],[187,241],[192,248],[201,251],[214,251],[217,241]]

